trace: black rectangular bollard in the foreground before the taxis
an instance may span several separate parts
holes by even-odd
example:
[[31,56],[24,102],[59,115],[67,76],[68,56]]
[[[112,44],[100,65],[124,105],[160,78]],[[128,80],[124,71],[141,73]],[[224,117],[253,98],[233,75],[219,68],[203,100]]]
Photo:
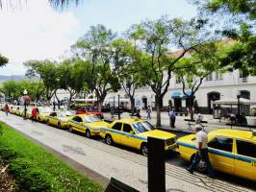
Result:
[[165,140],[147,137],[148,192],[166,192]]

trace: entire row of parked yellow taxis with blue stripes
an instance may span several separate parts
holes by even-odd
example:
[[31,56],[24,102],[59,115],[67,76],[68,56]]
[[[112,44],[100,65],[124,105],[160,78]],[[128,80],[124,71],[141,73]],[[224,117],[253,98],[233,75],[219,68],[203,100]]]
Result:
[[[27,117],[31,117],[32,108],[28,108]],[[12,107],[11,113],[24,116],[24,108]],[[114,122],[104,121],[95,114],[76,114],[76,111],[57,110],[38,107],[38,122],[66,129],[69,132],[83,132],[86,137],[99,135],[106,143],[125,145],[147,155],[147,137],[157,137],[166,142],[166,151],[176,151],[187,161],[192,161],[196,153],[195,135],[190,134],[177,139],[170,132],[154,128],[141,119],[120,119]],[[213,167],[230,175],[256,181],[256,132],[219,129],[208,134],[209,157]],[[197,169],[206,171],[204,162]]]

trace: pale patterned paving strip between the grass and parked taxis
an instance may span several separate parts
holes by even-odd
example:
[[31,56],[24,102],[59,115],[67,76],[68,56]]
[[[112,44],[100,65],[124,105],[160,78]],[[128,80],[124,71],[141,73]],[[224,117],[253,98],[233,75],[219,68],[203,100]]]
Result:
[[[79,134],[24,121],[13,115],[6,117],[3,112],[0,112],[0,120],[101,176],[109,179],[114,177],[140,191],[147,191],[147,159],[136,151],[120,146],[108,146],[99,138],[87,139]],[[235,184],[233,180],[225,179],[231,178],[230,176],[223,176],[221,180],[211,180],[198,173],[187,173],[185,166],[186,163],[177,156],[166,156],[166,191],[253,191],[253,183],[248,181],[243,183],[235,180],[236,183],[240,183]]]

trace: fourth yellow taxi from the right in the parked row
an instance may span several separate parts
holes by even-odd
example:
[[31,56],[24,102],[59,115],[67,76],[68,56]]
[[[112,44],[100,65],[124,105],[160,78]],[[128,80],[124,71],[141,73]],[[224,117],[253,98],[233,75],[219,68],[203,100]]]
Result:
[[57,126],[57,128],[68,128],[67,122],[75,115],[75,111],[63,110],[54,111],[46,115],[46,123],[48,125]]

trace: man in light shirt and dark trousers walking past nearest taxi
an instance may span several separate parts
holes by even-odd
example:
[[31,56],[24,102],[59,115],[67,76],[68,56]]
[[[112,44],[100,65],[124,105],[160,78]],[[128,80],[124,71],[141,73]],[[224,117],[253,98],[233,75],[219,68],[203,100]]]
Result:
[[206,132],[202,131],[202,127],[200,125],[196,125],[194,127],[195,131],[195,144],[196,144],[196,154],[192,159],[192,164],[190,167],[187,168],[187,170],[193,174],[193,171],[197,164],[200,162],[200,160],[203,160],[206,163],[208,176],[212,179],[215,179],[215,172],[212,168],[212,164],[210,162],[209,156],[208,156],[208,135]]

